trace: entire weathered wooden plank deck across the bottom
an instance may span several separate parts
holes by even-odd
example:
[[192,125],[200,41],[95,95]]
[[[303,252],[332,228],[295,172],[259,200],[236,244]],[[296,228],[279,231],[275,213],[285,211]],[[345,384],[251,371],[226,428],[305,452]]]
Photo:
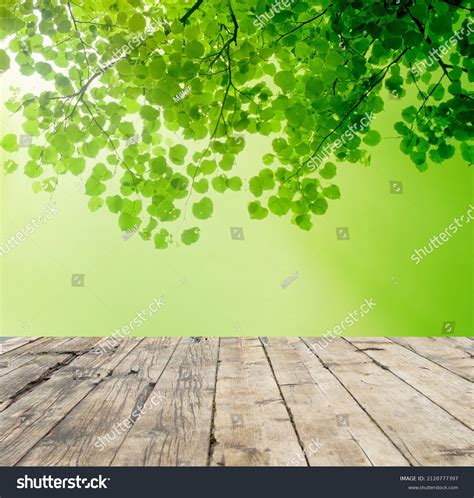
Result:
[[474,464],[472,338],[99,341],[0,355],[0,465]]

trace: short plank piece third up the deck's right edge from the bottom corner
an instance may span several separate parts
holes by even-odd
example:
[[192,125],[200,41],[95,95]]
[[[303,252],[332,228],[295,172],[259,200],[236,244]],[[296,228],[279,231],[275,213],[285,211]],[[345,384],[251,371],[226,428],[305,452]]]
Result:
[[451,372],[474,382],[472,355],[451,344],[443,337],[391,337],[391,341],[404,346]]

